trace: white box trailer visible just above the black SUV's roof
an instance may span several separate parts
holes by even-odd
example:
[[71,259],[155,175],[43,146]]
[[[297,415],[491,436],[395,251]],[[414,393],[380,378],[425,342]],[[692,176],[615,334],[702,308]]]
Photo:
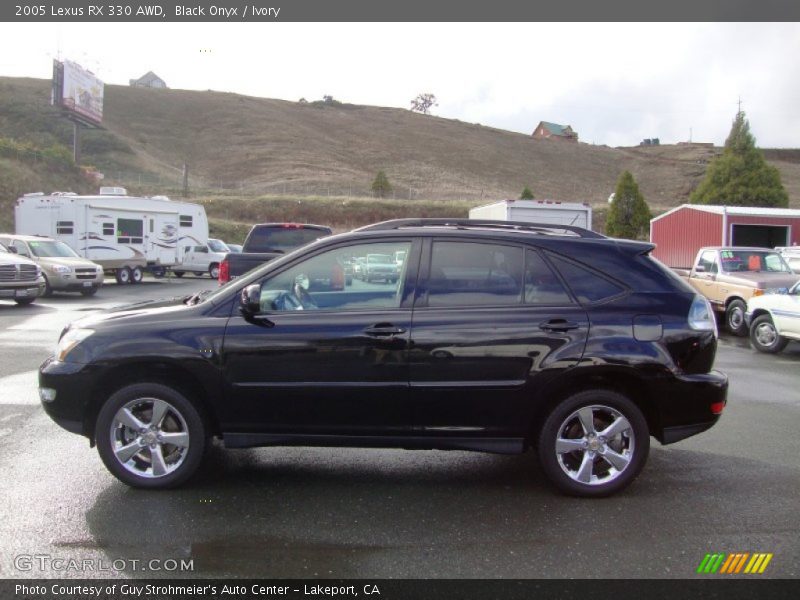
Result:
[[592,228],[592,207],[583,202],[555,200],[501,200],[469,211],[470,219],[525,221],[547,225]]

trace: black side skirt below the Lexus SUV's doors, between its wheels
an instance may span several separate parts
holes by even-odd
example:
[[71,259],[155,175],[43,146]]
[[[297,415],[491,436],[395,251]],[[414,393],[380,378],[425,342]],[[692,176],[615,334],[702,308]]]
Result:
[[522,454],[525,451],[525,440],[523,438],[223,433],[222,439],[226,448],[335,446],[344,448],[403,448],[405,450],[472,450],[494,454]]

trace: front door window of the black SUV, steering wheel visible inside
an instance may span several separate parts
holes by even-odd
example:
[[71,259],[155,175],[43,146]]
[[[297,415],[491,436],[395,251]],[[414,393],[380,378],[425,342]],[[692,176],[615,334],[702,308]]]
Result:
[[266,279],[261,311],[399,308],[411,242],[329,250]]

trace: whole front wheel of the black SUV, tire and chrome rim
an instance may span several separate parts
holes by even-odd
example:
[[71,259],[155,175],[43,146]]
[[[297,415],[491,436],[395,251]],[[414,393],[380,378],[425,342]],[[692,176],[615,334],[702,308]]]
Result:
[[177,390],[141,383],[114,393],[100,409],[97,450],[120,481],[139,488],[180,485],[200,466],[206,427]]

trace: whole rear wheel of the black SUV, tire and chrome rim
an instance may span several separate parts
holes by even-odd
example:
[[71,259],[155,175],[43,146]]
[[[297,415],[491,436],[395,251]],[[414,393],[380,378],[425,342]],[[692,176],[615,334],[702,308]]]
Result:
[[[581,418],[588,414],[591,432]],[[611,423],[624,429],[612,430],[613,435],[604,440],[599,434],[608,431]],[[560,452],[559,439],[568,441],[562,443]],[[542,424],[538,439],[539,461],[548,479],[566,494],[587,498],[609,496],[627,487],[641,472],[649,451],[650,433],[642,411],[610,390],[579,392],[557,404]]]

